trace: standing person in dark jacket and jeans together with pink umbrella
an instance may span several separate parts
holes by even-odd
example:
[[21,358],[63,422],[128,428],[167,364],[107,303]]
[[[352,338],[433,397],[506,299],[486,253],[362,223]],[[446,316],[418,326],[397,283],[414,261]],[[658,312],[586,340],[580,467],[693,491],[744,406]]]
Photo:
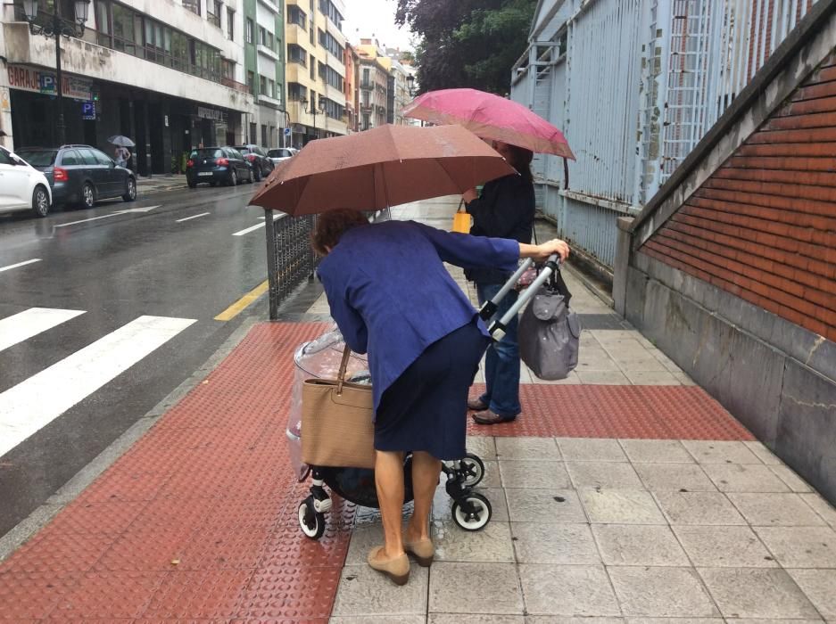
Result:
[[[481,194],[476,189],[463,193],[466,210],[473,218],[470,234],[530,243],[534,234],[531,161],[534,152],[574,159],[563,133],[525,106],[475,89],[430,91],[407,106],[404,115],[439,125],[467,127],[492,142],[515,171],[488,182]],[[473,267],[465,271],[465,276],[476,283],[482,305],[493,299],[512,273],[495,267]],[[516,300],[517,292],[510,292],[497,306],[494,317],[505,316]],[[522,412],[516,317],[507,325],[505,337],[488,347],[484,369],[484,393],[468,401],[468,409],[475,412],[474,422],[490,425],[515,420]]]

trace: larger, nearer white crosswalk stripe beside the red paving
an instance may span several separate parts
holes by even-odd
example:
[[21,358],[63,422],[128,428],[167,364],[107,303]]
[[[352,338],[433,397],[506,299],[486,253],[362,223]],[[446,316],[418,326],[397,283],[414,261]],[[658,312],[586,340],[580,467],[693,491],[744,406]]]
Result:
[[139,316],[0,394],[0,456],[195,322]]

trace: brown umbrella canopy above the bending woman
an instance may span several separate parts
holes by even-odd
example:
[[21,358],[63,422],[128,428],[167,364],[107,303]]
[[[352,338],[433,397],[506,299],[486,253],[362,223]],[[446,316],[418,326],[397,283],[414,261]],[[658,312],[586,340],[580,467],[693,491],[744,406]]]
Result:
[[289,215],[384,209],[463,193],[512,173],[463,127],[387,125],[311,141],[273,170],[250,203]]

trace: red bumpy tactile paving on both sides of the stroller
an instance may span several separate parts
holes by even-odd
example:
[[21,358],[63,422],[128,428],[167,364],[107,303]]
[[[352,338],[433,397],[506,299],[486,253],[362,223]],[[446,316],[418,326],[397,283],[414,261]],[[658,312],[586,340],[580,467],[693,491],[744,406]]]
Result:
[[[293,353],[324,324],[258,324],[79,498],[0,564],[0,619],[325,624],[355,505],[302,535],[285,427]],[[474,388],[473,394],[481,392]],[[526,384],[491,436],[752,439],[697,387]]]

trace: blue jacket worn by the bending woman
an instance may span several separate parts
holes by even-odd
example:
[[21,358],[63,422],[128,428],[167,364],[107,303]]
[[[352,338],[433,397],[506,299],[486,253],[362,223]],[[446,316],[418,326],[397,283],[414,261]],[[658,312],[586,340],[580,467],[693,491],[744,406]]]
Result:
[[[476,316],[443,262],[514,271],[518,259],[516,241],[451,234],[415,221],[343,234],[320,262],[319,279],[345,342],[368,352],[375,409],[424,349]],[[479,327],[488,336],[481,321]]]

